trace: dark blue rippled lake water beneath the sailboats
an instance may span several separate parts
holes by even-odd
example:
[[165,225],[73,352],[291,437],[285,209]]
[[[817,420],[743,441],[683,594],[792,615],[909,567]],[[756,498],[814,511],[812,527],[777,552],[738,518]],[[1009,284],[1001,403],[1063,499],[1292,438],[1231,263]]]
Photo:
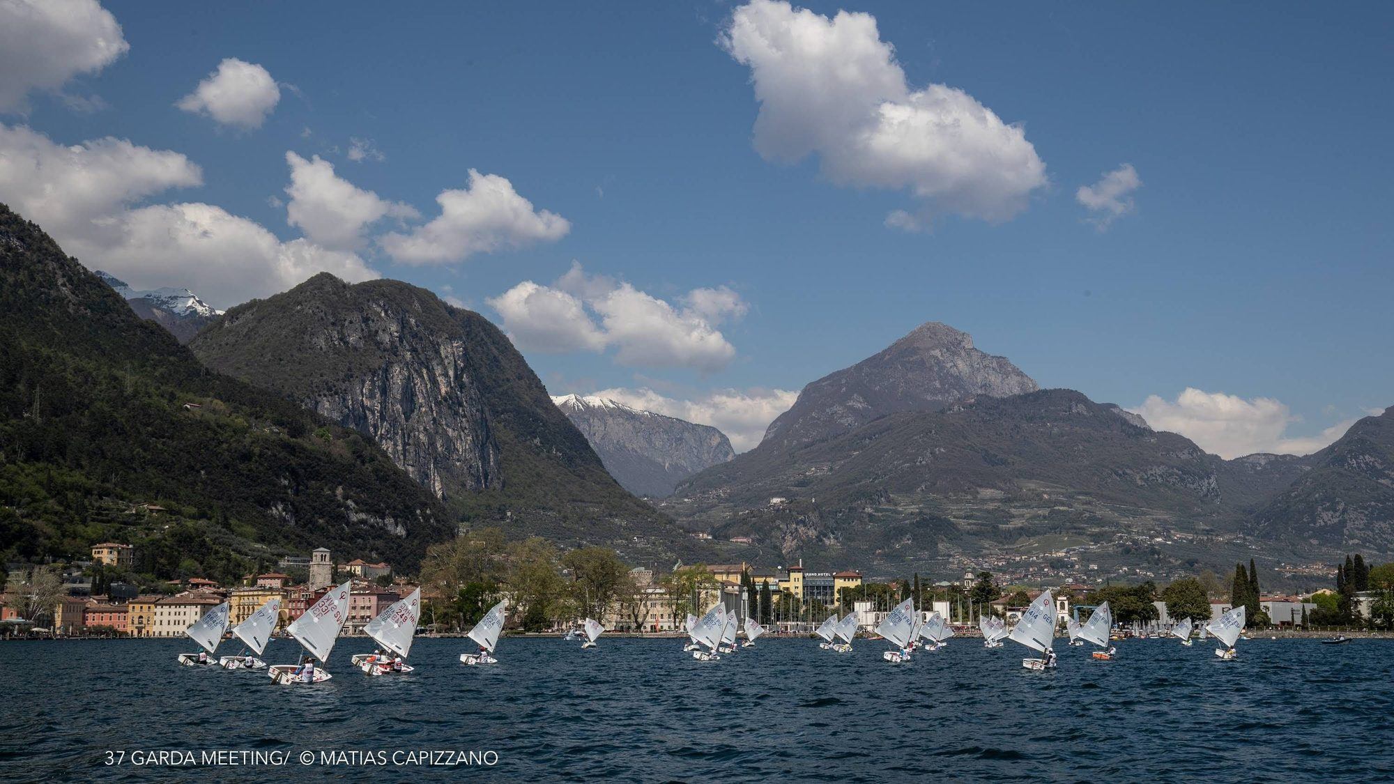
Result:
[[[231,647],[230,643],[224,646]],[[1319,781],[1394,777],[1394,643],[1241,642],[1241,661],[1167,640],[1055,672],[1023,650],[952,640],[909,665],[811,640],[761,640],[698,663],[677,640],[505,639],[464,667],[467,640],[417,640],[406,677],[368,678],[343,639],[315,688],[263,672],[178,667],[180,640],[0,644],[0,777],[233,781],[256,767],[107,767],[106,751],[289,752],[287,774],[404,780]],[[266,660],[291,661],[276,640]],[[233,650],[222,653],[236,653]],[[304,751],[493,751],[492,766],[300,767]]]

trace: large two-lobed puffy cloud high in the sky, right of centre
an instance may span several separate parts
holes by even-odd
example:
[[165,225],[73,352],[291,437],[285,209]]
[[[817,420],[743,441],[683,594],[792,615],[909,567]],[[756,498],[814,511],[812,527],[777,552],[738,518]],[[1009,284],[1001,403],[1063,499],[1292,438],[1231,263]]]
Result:
[[912,89],[875,17],[828,18],[786,1],[736,8],[722,46],[750,67],[760,116],[756,149],[768,160],[818,153],[846,186],[906,188],[937,213],[1006,220],[1047,184],[1046,165],[1019,126],[962,89]]

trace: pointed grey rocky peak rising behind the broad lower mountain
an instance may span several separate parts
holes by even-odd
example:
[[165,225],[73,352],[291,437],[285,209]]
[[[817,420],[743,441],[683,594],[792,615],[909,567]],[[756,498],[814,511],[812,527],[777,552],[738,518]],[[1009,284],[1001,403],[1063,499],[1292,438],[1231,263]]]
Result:
[[804,386],[793,407],[769,424],[760,448],[793,448],[898,412],[1036,389],[1036,382],[1011,361],[973,347],[966,332],[931,321],[878,354]]

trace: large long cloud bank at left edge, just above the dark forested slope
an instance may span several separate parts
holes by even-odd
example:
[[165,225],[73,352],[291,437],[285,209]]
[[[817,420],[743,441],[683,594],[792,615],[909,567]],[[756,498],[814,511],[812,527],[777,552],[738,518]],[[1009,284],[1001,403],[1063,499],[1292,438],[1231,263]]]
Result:
[[177,152],[116,138],[63,146],[0,124],[0,194],[88,269],[106,269],[137,289],[188,286],[217,307],[282,292],[316,272],[376,278],[351,252],[304,239],[282,243],[215,205],[141,205],[201,183],[199,167]]

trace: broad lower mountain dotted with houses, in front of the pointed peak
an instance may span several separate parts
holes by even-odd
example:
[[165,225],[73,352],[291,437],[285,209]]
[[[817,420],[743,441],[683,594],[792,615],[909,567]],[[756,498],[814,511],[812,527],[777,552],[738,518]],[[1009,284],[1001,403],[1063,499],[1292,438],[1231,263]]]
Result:
[[1044,389],[899,412],[822,441],[761,445],[696,474],[665,508],[820,568],[907,573],[1065,545],[1136,562],[1138,543],[1178,533],[1193,565],[1239,548],[1245,515],[1308,470],[1296,458],[1227,462],[1115,409]]

